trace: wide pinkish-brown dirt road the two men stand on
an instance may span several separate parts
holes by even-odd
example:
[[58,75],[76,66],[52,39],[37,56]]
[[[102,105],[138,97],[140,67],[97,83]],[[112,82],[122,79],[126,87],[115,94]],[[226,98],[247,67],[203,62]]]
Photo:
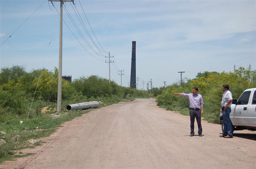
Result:
[[[207,113],[207,112],[205,112]],[[197,125],[195,123],[195,133]],[[189,117],[136,99],[66,122],[33,156],[0,168],[25,169],[256,169],[256,131],[219,138],[221,126],[202,121],[203,137],[189,137]]]

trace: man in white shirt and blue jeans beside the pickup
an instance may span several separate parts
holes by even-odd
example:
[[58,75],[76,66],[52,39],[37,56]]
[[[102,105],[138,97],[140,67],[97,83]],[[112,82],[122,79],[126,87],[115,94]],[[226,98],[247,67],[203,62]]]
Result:
[[229,114],[231,112],[231,103],[232,103],[232,94],[229,91],[229,85],[224,84],[222,86],[222,91],[224,92],[222,95],[222,117],[223,117],[223,133],[220,135],[220,137],[223,138],[233,138],[233,129],[232,129],[232,124],[231,120],[229,118]]

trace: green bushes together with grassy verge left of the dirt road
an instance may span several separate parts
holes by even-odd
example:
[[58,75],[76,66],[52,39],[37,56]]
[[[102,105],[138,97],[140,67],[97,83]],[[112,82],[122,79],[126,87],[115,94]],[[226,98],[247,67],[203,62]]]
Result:
[[[35,89],[37,88],[36,92]],[[148,98],[147,91],[118,86],[114,81],[92,75],[73,82],[62,79],[62,111],[57,113],[58,70],[37,69],[26,72],[13,66],[0,70],[0,163],[23,155],[19,150],[42,142],[31,139],[47,137],[65,121],[87,111],[67,111],[68,104],[101,101],[108,106],[134,98]],[[34,98],[34,102],[32,100]],[[2,131],[2,132],[1,132]]]

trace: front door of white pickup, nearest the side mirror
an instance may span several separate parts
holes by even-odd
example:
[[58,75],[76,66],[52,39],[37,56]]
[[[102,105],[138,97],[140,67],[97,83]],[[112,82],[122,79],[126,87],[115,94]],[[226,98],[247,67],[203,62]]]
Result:
[[[235,124],[249,124],[248,122],[248,104],[251,91],[245,91],[237,100],[234,111]],[[233,124],[233,125],[235,125]]]

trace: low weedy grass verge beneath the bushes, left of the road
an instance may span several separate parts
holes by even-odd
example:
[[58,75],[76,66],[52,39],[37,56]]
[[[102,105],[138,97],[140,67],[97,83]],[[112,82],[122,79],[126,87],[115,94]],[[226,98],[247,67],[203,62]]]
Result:
[[[28,140],[38,139],[50,136],[56,131],[57,127],[65,121],[70,121],[75,117],[88,113],[90,110],[81,111],[62,111],[58,118],[52,117],[50,114],[39,114],[36,118],[27,119],[22,116],[0,115],[0,139],[5,140],[5,144],[0,145],[0,163],[7,160],[13,160],[17,157],[29,156],[17,155],[18,150],[24,148],[34,148],[44,142],[36,142],[30,144]],[[20,121],[23,121],[20,124]]]

